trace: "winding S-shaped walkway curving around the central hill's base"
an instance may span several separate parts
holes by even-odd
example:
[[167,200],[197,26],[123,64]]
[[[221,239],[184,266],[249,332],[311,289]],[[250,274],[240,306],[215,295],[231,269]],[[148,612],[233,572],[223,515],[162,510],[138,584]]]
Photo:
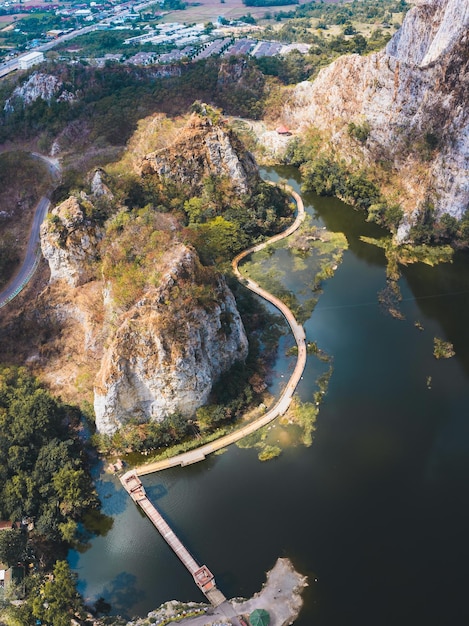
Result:
[[288,193],[293,197],[297,206],[297,216],[293,224],[282,233],[271,237],[268,241],[244,250],[244,252],[238,254],[232,261],[233,272],[237,279],[248,289],[250,289],[254,293],[257,293],[259,296],[264,298],[264,300],[271,302],[275,307],[277,307],[277,309],[282,313],[282,315],[285,317],[288,324],[290,325],[290,328],[292,329],[296,344],[298,346],[298,358],[296,361],[295,369],[293,370],[287,386],[283,390],[282,395],[274,404],[274,406],[269,409],[267,413],[254,420],[250,424],[247,424],[246,426],[243,426],[233,431],[229,435],[225,435],[223,437],[220,437],[219,439],[216,439],[215,441],[200,446],[200,448],[195,448],[194,450],[190,450],[189,452],[184,452],[169,459],[163,459],[162,461],[154,461],[153,463],[140,465],[139,467],[134,469],[134,472],[139,476],[152,474],[153,472],[159,472],[170,467],[176,467],[177,465],[185,466],[196,463],[197,461],[203,461],[207,454],[211,454],[216,450],[226,448],[226,446],[229,446],[230,444],[235,443],[240,439],[243,439],[243,437],[246,437],[246,435],[250,435],[259,428],[262,428],[263,426],[277,418],[279,415],[283,415],[284,413],[286,413],[288,407],[290,406],[292,396],[301,379],[306,365],[306,337],[304,329],[300,324],[298,324],[293,313],[281,300],[273,296],[268,291],[265,291],[265,289],[262,289],[262,287],[259,287],[259,285],[253,280],[249,278],[245,279],[238,268],[239,262],[242,261],[249,254],[252,254],[253,252],[258,252],[259,250],[263,250],[270,244],[275,243],[276,241],[280,241],[285,237],[288,237],[300,227],[301,223],[305,219],[303,201],[301,199],[301,196],[293,191],[293,189],[288,188]]

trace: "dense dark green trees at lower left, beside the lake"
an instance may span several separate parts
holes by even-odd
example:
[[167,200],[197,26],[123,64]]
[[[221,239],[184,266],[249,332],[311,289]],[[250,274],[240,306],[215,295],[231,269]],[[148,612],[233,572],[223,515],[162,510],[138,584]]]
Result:
[[98,505],[76,432],[77,412],[25,368],[0,368],[0,517],[34,524],[49,541],[72,542]]

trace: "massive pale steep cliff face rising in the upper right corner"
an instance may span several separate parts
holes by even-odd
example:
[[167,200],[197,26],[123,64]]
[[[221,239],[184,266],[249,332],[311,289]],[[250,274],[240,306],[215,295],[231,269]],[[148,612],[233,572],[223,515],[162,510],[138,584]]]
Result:
[[[300,83],[284,119],[327,131],[345,158],[391,162],[407,220],[428,199],[459,219],[469,204],[468,65],[469,0],[421,0],[384,51],[341,57]],[[363,146],[350,122],[369,125]]]

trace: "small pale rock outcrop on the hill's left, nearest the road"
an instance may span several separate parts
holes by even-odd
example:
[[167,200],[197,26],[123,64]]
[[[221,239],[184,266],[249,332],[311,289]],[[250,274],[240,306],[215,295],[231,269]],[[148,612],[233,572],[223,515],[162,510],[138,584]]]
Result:
[[102,236],[102,229],[86,219],[75,196],[53,209],[41,226],[41,248],[49,263],[50,282],[64,280],[77,287],[89,281]]

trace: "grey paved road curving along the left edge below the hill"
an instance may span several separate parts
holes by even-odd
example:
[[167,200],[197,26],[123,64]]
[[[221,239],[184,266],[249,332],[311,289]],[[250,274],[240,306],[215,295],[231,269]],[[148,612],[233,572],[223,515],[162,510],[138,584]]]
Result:
[[[57,159],[43,156],[36,152],[32,153],[32,156],[44,161],[51,173],[53,179],[58,180],[60,177],[60,165]],[[26,256],[23,264],[18,272],[13,276],[8,285],[0,292],[0,308],[11,302],[28,284],[37,269],[39,261],[41,260],[41,248],[39,246],[39,230],[44,218],[50,207],[49,196],[43,196],[38,204],[34,213],[33,224],[29,233],[28,247],[26,249]]]

